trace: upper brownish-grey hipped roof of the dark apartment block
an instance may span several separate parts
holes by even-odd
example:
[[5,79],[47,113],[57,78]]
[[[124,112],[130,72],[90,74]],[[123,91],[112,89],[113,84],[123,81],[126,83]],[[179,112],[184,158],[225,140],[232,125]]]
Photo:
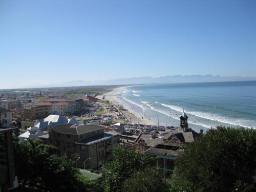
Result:
[[95,125],[76,125],[73,123],[68,124],[57,124],[52,129],[48,129],[48,131],[61,132],[67,134],[84,134],[97,130],[102,130],[102,126]]

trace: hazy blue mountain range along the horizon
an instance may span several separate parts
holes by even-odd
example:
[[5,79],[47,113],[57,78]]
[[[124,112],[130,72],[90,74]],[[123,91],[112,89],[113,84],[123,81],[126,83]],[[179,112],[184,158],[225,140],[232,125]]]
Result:
[[188,83],[188,82],[221,82],[221,81],[249,81],[256,77],[221,77],[219,75],[173,75],[164,77],[132,77],[119,78],[102,81],[74,80],[51,85],[51,87],[73,87],[73,86],[99,86],[119,84],[146,84],[146,83]]

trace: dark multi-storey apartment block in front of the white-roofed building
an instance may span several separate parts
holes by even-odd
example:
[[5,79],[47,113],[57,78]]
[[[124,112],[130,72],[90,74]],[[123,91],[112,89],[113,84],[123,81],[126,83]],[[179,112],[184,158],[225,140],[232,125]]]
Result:
[[48,129],[48,135],[39,138],[57,146],[59,154],[73,159],[77,167],[97,169],[113,158],[120,134],[105,132],[103,126],[68,123]]

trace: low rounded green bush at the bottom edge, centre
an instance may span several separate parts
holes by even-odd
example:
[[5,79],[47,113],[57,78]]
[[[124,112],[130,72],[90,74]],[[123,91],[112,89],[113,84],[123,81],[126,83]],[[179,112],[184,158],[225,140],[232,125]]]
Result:
[[124,192],[165,192],[168,189],[169,185],[164,173],[156,167],[147,167],[144,170],[139,170],[123,184]]

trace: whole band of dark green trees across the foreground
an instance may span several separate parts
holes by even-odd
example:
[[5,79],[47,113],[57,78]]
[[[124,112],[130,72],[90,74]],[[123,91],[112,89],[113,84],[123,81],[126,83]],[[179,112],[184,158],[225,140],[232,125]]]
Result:
[[[0,135],[0,152],[4,145]],[[155,167],[154,156],[129,148],[115,148],[114,159],[103,165],[103,176],[96,181],[83,177],[74,162],[57,156],[56,147],[40,140],[20,143],[14,137],[14,151],[21,191],[256,191],[256,130],[252,129],[218,126],[185,144],[170,184]]]

